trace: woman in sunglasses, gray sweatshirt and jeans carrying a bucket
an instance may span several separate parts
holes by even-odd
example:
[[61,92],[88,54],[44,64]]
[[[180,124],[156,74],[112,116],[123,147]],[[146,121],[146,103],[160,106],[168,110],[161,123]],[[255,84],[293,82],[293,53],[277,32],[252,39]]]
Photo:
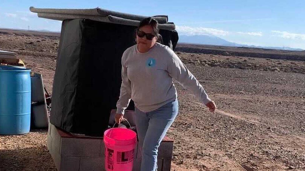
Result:
[[158,147],[178,114],[177,91],[173,78],[204,103],[211,112],[215,103],[168,46],[157,41],[158,21],[149,17],[140,22],[137,44],[122,56],[122,84],[115,121],[123,120],[130,99],[135,104],[139,147],[142,147],[141,171],[157,169]]

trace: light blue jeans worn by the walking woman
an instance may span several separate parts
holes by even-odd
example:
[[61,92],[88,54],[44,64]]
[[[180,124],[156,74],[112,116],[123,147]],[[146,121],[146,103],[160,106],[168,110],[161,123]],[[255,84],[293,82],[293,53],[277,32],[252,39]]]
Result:
[[157,170],[158,147],[178,114],[178,99],[151,111],[135,107],[136,127],[142,161],[141,171]]

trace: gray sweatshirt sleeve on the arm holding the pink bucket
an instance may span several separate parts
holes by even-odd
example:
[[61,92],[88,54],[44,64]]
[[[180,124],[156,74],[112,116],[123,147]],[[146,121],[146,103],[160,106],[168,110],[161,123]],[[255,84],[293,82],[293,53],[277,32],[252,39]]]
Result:
[[127,68],[124,62],[125,53],[122,56],[122,83],[120,89],[120,97],[117,102],[117,113],[123,114],[131,100],[131,86],[130,80],[127,77]]

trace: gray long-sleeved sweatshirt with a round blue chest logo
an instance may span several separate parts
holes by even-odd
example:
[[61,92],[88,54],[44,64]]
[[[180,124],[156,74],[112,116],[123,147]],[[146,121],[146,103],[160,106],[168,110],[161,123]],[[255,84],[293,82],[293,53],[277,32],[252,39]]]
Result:
[[122,84],[117,113],[124,114],[130,99],[142,112],[150,112],[177,98],[173,78],[204,104],[211,100],[202,85],[168,46],[156,43],[141,53],[137,45],[122,56]]

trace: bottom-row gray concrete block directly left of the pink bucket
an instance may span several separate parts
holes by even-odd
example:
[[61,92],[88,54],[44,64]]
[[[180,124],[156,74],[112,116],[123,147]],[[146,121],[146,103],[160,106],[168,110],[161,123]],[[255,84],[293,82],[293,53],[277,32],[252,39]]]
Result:
[[103,157],[81,157],[79,171],[104,171],[105,161]]

